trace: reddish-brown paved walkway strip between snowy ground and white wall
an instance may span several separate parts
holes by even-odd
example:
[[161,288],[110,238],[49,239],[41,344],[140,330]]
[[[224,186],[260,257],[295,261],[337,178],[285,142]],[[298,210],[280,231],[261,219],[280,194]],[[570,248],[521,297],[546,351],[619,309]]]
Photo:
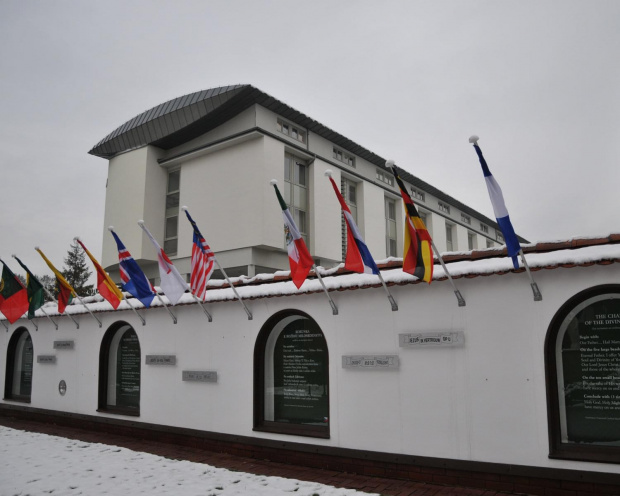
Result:
[[297,465],[287,465],[284,463],[270,462],[266,460],[254,460],[252,458],[243,458],[225,453],[214,453],[211,451],[177,446],[174,444],[145,441],[128,436],[93,432],[55,424],[20,420],[12,417],[0,416],[0,425],[4,425],[12,429],[41,432],[52,436],[78,439],[89,443],[103,443],[122,446],[134,451],[152,453],[154,455],[164,456],[175,460],[188,460],[190,462],[206,463],[214,467],[227,468],[229,470],[318,482],[335,487],[356,489],[358,491],[365,491],[369,493],[380,493],[386,496],[505,496],[516,494],[503,491],[427,484],[424,482],[413,482],[400,479],[387,479],[383,477],[370,477],[366,475],[349,474],[346,472],[335,472],[331,470],[320,470]]

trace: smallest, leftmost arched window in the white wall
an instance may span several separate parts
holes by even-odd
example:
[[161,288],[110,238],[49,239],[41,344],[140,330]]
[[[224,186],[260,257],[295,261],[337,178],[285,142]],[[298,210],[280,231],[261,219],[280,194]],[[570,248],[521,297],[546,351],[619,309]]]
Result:
[[6,354],[4,399],[30,403],[32,393],[32,363],[34,350],[30,333],[17,329],[9,340]]

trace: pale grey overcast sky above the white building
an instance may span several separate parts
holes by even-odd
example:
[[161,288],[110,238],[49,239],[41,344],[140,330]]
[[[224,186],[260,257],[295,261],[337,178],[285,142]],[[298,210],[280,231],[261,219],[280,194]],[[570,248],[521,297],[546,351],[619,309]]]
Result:
[[34,246],[61,268],[79,235],[100,257],[87,152],[243,83],[494,218],[478,134],[531,241],[620,232],[619,57],[616,0],[0,0],[0,256],[49,274]]

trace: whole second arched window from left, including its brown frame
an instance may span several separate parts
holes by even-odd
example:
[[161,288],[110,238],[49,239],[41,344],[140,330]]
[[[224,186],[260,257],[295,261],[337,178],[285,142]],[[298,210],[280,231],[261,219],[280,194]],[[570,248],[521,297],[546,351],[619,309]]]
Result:
[[140,342],[125,322],[110,327],[101,342],[98,411],[140,415]]

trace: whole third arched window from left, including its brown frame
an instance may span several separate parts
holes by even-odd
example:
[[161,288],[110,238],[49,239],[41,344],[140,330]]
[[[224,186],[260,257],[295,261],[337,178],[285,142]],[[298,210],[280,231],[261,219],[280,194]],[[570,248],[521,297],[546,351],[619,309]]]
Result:
[[329,437],[329,356],[318,324],[299,311],[272,316],[254,348],[254,429]]

